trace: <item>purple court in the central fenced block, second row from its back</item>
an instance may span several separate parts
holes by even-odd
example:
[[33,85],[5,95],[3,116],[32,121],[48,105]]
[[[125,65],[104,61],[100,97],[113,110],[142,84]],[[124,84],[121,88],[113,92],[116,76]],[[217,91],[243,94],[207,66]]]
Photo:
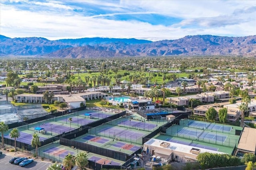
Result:
[[145,135],[144,133],[139,133],[139,132],[134,132],[134,131],[128,130],[128,128],[120,129],[120,128],[116,128],[116,127],[106,127],[104,129],[100,129],[96,133],[100,134],[100,135],[104,135],[104,136],[107,134],[114,138],[122,137],[125,139],[127,138],[127,139],[133,139],[133,140],[139,139]]

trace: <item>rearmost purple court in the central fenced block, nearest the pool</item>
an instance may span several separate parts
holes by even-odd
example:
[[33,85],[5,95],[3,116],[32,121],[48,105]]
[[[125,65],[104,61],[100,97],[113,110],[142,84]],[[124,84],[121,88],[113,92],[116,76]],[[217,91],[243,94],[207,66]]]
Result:
[[125,120],[125,121],[121,121],[118,123],[118,125],[125,125],[128,127],[136,127],[138,129],[154,129],[155,127],[157,127],[157,125],[155,124],[151,124],[151,123],[146,123],[146,122],[141,122],[141,121],[132,121],[132,120]]

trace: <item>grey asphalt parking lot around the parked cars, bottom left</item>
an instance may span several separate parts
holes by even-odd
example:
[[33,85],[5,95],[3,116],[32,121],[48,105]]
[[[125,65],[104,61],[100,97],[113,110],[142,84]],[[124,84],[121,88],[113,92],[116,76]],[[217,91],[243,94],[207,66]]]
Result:
[[0,155],[0,170],[46,170],[50,165],[50,163],[34,161],[25,167],[21,167],[18,165],[10,164],[9,160],[11,158],[12,156],[8,156],[6,154]]

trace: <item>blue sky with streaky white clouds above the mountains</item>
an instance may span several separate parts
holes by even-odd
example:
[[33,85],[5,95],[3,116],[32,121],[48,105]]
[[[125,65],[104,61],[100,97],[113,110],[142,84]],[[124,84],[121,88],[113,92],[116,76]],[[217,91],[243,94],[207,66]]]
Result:
[[256,35],[256,0],[0,0],[0,34],[151,41]]

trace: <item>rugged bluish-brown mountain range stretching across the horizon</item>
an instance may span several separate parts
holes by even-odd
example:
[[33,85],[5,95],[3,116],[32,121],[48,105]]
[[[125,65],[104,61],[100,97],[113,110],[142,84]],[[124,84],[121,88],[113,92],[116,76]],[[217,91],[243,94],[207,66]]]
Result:
[[48,40],[42,37],[10,38],[0,35],[0,56],[58,58],[140,56],[256,56],[256,35],[222,37],[186,36],[176,40],[81,38]]

